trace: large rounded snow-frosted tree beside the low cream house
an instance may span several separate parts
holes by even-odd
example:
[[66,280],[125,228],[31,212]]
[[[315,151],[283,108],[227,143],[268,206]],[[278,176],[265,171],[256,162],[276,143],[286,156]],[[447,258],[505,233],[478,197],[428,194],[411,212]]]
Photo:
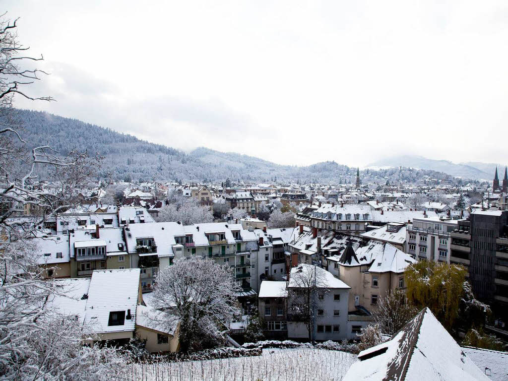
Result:
[[153,307],[164,315],[152,319],[169,329],[178,325],[183,352],[213,347],[224,343],[239,291],[229,266],[198,256],[177,259],[157,275]]

